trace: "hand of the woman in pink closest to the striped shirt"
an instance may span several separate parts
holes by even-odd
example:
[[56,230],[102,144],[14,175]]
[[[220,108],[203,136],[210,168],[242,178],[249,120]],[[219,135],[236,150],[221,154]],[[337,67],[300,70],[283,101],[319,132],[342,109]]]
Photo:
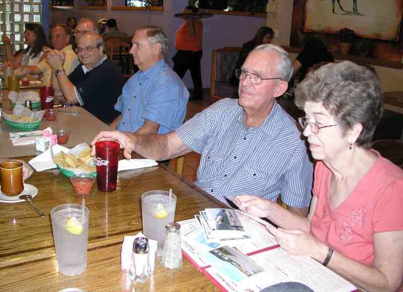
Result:
[[270,215],[272,204],[276,204],[275,202],[256,196],[249,196],[248,194],[235,196],[234,203],[240,210],[260,218]]

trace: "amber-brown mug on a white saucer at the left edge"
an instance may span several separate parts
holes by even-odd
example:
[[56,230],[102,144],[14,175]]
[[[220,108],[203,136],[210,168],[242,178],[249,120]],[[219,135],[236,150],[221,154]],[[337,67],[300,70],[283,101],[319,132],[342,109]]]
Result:
[[15,196],[24,190],[22,163],[6,161],[0,164],[2,192],[7,196]]

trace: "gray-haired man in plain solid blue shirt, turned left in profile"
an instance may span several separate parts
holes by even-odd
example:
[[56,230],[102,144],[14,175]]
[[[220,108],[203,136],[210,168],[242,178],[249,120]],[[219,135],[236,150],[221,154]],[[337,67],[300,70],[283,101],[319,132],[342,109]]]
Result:
[[115,104],[121,114],[111,128],[138,134],[166,134],[184,121],[189,92],[178,75],[165,63],[168,36],[155,26],[139,27],[130,54],[139,67],[123,86]]

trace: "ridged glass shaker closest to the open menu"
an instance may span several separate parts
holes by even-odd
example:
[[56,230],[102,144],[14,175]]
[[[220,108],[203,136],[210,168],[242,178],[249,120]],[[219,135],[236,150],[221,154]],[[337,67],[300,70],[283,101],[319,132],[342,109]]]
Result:
[[166,237],[162,251],[161,264],[168,269],[177,269],[182,266],[182,249],[180,246],[180,225],[176,222],[165,226]]

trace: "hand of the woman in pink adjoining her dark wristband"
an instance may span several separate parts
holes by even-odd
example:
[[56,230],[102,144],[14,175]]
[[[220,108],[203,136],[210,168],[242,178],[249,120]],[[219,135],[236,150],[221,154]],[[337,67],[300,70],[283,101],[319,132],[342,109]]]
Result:
[[289,254],[309,256],[319,262],[323,262],[326,258],[328,247],[312,234],[302,230],[276,228],[272,225],[266,228],[276,237],[280,247]]

